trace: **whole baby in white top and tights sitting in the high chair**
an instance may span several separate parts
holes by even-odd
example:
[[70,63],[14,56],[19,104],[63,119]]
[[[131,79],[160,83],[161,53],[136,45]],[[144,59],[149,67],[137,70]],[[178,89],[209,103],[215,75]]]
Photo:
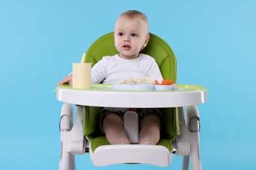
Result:
[[[148,76],[161,82],[155,59],[140,54],[148,44],[148,20],[137,10],[128,10],[116,20],[114,28],[115,46],[119,54],[105,56],[91,70],[92,83],[118,83],[129,77]],[[63,78],[58,85],[69,83],[72,74]],[[106,107],[100,113],[100,129],[110,144],[131,144],[123,127],[123,114],[129,110],[137,112],[140,123],[139,144],[157,144],[160,140],[160,116],[158,109],[131,109]]]

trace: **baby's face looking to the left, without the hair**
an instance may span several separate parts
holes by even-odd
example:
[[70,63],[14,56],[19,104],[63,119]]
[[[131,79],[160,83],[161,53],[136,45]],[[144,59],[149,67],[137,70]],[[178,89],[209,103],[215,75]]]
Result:
[[114,37],[121,58],[137,58],[148,43],[148,24],[139,18],[131,20],[120,16],[116,21]]

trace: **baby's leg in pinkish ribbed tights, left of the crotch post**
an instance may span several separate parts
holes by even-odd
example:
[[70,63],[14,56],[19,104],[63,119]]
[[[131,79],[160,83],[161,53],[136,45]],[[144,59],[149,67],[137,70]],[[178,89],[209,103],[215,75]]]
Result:
[[117,114],[108,114],[104,118],[103,129],[110,144],[131,144],[123,127],[123,120]]

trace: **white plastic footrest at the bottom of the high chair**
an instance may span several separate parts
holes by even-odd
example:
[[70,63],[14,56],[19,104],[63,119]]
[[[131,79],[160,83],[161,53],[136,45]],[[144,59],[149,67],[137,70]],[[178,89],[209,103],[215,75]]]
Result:
[[99,146],[95,149],[95,152],[90,147],[90,158],[95,166],[117,163],[146,163],[169,166],[172,156],[165,146],[118,144]]

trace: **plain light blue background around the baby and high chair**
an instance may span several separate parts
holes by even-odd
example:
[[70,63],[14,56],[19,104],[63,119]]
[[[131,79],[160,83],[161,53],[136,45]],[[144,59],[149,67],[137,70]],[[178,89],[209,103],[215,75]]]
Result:
[[[62,103],[53,92],[117,16],[144,12],[173,48],[178,83],[209,90],[199,105],[203,169],[256,169],[256,1],[0,1],[0,169],[58,169]],[[89,154],[77,169],[94,167]]]

